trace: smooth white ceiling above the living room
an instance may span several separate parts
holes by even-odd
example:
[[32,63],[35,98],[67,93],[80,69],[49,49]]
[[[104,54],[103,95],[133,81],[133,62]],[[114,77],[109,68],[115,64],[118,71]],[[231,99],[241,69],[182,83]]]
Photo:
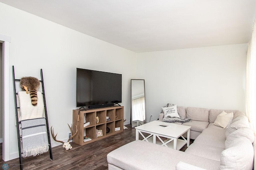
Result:
[[256,0],[0,0],[134,52],[248,43]]

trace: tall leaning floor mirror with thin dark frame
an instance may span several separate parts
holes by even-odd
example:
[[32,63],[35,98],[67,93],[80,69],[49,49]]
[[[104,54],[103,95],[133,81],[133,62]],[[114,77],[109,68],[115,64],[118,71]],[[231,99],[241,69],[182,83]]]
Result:
[[143,79],[131,79],[131,124],[134,128],[145,122],[145,81]]

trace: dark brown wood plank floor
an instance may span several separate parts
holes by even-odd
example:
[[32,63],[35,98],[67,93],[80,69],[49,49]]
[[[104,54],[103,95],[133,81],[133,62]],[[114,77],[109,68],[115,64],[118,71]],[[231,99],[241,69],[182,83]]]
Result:
[[[107,170],[107,154],[112,150],[135,140],[135,128],[126,125],[128,129],[120,134],[80,146],[71,142],[72,149],[64,150],[62,145],[52,148],[53,160],[50,160],[49,153],[39,156],[30,156],[23,159],[24,170]],[[192,143],[194,140],[190,140]],[[181,149],[186,150],[186,145]],[[149,148],[150,149],[150,148]],[[0,167],[8,164],[8,170],[20,169],[19,158],[4,162],[2,160],[2,143],[0,144]],[[124,153],[125,154],[125,153]]]

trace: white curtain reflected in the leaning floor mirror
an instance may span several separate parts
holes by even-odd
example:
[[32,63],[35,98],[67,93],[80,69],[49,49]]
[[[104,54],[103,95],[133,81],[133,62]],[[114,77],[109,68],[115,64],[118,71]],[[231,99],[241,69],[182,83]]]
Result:
[[132,121],[145,120],[145,97],[132,100]]

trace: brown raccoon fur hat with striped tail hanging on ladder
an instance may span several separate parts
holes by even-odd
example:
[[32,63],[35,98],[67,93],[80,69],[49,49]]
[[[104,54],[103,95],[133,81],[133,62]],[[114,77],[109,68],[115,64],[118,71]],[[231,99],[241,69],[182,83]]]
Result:
[[37,105],[37,89],[40,86],[40,81],[36,77],[22,77],[20,79],[20,87],[30,94],[31,103],[33,106]]

